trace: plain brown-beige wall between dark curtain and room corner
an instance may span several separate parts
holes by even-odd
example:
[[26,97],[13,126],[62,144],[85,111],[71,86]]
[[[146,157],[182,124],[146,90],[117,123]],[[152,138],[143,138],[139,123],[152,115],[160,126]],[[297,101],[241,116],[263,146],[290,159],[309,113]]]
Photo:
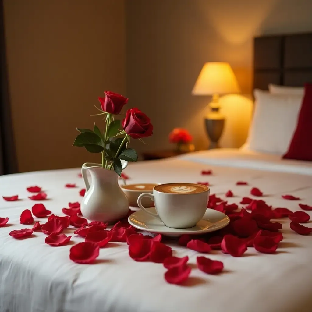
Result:
[[100,161],[72,147],[104,90],[124,93],[124,0],[4,0],[20,171]]

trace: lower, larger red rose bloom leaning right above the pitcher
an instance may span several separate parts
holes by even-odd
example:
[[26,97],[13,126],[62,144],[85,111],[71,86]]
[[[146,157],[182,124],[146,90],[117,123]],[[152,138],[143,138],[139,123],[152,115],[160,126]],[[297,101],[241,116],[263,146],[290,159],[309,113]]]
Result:
[[122,126],[126,134],[133,139],[140,139],[153,134],[151,120],[137,108],[127,110]]

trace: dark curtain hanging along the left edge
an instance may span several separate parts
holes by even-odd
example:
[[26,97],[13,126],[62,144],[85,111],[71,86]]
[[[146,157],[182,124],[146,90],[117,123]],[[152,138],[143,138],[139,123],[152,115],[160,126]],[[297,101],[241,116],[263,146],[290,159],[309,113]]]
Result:
[[0,0],[1,40],[1,102],[0,102],[0,175],[17,172],[17,160],[12,131],[9,88],[7,81],[6,49],[4,36],[3,0]]

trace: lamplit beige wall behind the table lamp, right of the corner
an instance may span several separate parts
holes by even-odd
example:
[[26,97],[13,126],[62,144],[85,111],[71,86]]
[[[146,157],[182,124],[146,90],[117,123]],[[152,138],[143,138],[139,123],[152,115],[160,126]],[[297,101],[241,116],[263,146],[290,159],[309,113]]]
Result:
[[[129,0],[126,2],[126,87],[131,103],[154,124],[148,146],[170,148],[167,135],[185,127],[197,148],[208,141],[203,127],[209,98],[191,95],[207,61],[231,64],[243,94],[250,94],[252,38],[255,35],[312,31],[311,0]],[[239,147],[247,136],[251,102],[222,99],[227,117],[221,139]]]

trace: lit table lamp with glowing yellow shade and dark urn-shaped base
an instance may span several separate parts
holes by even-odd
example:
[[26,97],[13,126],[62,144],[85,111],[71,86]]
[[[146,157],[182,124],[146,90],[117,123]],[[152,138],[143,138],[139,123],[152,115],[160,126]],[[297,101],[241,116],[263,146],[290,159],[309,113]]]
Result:
[[219,94],[240,93],[236,77],[229,63],[205,63],[193,87],[193,95],[212,95],[209,103],[210,113],[205,118],[205,125],[210,139],[209,149],[218,148],[225,118],[219,112]]

